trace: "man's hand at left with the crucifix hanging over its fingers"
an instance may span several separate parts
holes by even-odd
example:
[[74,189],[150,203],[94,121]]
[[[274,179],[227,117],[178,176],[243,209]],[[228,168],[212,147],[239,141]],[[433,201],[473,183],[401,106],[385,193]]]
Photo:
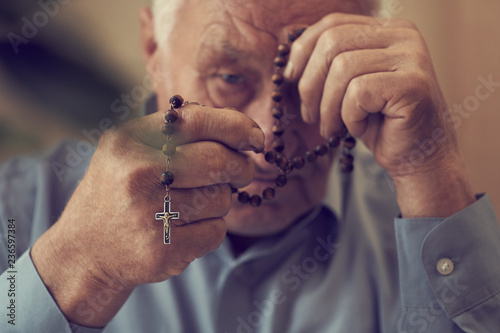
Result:
[[[172,243],[163,244],[166,136],[159,112],[106,133],[58,222],[31,256],[66,317],[104,326],[140,284],[180,274],[219,247],[231,189],[249,184],[254,164],[241,150],[260,150],[264,134],[242,113],[188,104],[179,109],[171,158]],[[105,292],[98,308],[89,300]],[[112,296],[109,296],[112,295]],[[95,311],[89,311],[95,310]]]

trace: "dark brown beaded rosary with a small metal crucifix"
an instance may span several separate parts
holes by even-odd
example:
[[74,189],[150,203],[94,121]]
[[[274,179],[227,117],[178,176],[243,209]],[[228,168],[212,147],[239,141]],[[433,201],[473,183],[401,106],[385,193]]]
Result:
[[[285,149],[285,143],[282,140],[282,135],[285,133],[285,128],[280,122],[283,117],[284,105],[283,105],[283,92],[281,91],[282,84],[285,82],[283,77],[283,69],[285,68],[288,55],[290,54],[291,44],[300,37],[304,32],[305,28],[294,30],[288,35],[288,43],[283,43],[278,46],[278,54],[274,58],[275,73],[271,77],[272,82],[275,85],[275,89],[271,94],[271,98],[274,102],[274,107],[272,108],[272,115],[275,119],[275,124],[272,128],[272,132],[275,136],[275,140],[272,144],[272,150],[259,152],[264,154],[264,158],[269,164],[276,164],[279,170],[279,175],[275,179],[276,187],[269,187],[265,189],[261,195],[254,194],[250,195],[246,191],[239,191],[236,188],[231,187],[232,193],[237,195],[238,201],[242,204],[249,204],[253,207],[259,207],[263,200],[271,200],[275,196],[275,191],[278,187],[284,187],[287,183],[287,175],[293,170],[302,169],[306,162],[314,163],[318,157],[327,155],[330,149],[335,149],[342,143],[342,156],[340,158],[340,169],[344,173],[350,173],[354,169],[353,161],[354,158],[350,151],[356,145],[356,140],[347,132],[347,128],[344,126],[343,131],[340,135],[331,137],[328,139],[327,143],[318,145],[315,149],[307,151],[304,156],[296,156],[292,159],[288,159],[283,150]],[[171,221],[174,219],[179,219],[179,212],[172,212],[170,208],[171,197],[170,197],[170,185],[174,182],[174,174],[169,171],[170,158],[175,154],[176,146],[172,143],[172,134],[175,131],[175,122],[178,118],[178,113],[176,109],[181,108],[183,105],[187,104],[183,98],[179,95],[175,95],[169,100],[170,109],[165,113],[165,123],[162,125],[162,133],[166,136],[166,143],[163,145],[163,154],[167,156],[166,158],[166,170],[161,174],[160,182],[165,186],[165,198],[163,212],[155,214],[155,219],[163,221],[163,235],[164,244],[170,244],[170,226]]]

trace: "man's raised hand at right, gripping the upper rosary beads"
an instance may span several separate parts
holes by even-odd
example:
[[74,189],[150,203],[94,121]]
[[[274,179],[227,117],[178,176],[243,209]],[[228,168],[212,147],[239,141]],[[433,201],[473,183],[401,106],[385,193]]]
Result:
[[449,216],[474,201],[426,44],[405,20],[330,14],[292,45],[285,76],[321,134],[341,120],[396,184],[403,216]]

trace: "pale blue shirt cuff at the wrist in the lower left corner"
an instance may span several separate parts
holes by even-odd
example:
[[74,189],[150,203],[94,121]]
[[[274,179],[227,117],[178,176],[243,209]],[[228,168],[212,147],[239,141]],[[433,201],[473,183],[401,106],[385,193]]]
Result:
[[[12,316],[0,321],[0,331],[102,332],[102,329],[83,327],[68,322],[38,275],[29,255],[30,250],[28,249],[16,260],[15,269],[8,269],[0,276],[0,291],[2,291],[0,299],[3,300],[0,306],[15,305],[14,310],[9,310]],[[10,294],[11,297],[7,293],[9,289],[14,293]],[[9,320],[13,321],[9,323]]]

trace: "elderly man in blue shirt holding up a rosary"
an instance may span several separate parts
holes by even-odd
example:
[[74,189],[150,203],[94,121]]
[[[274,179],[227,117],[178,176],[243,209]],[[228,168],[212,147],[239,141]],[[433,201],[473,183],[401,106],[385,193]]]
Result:
[[[421,35],[367,16],[373,5],[158,0],[143,10],[156,91],[146,115],[107,132],[62,181],[51,166],[64,145],[2,168],[4,234],[30,238],[2,275],[2,331],[500,331],[491,204],[471,192]],[[277,155],[261,152],[276,148],[270,77],[289,33],[284,153],[304,156],[342,136],[342,123],[364,144],[352,174],[333,171],[333,211],[322,200],[335,142],[301,170],[282,168],[286,186],[260,207],[232,194],[279,178],[268,163]]]

